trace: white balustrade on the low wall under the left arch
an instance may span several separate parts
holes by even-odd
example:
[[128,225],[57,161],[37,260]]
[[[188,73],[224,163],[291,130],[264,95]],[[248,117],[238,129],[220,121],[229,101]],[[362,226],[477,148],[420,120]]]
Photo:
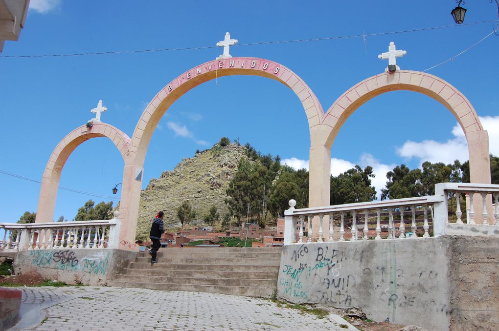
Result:
[[0,251],[118,248],[118,216],[115,212],[112,220],[0,223]]

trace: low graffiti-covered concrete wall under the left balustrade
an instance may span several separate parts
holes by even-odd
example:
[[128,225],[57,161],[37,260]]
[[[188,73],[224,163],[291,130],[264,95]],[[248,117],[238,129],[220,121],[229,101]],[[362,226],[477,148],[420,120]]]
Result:
[[14,260],[15,273],[37,272],[68,284],[105,285],[135,259],[137,252],[118,249],[23,250]]

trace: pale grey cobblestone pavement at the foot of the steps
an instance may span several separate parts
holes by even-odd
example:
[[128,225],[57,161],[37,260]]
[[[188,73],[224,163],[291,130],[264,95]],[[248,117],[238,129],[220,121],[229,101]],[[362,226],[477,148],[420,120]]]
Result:
[[337,315],[319,319],[259,298],[92,286],[20,289],[21,313],[42,309],[41,319],[10,330],[357,330]]

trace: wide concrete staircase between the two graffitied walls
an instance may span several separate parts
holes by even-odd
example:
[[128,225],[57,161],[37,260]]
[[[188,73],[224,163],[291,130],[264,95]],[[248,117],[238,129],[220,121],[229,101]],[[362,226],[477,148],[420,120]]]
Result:
[[156,264],[139,253],[108,286],[214,292],[269,298],[277,287],[281,247],[161,248]]

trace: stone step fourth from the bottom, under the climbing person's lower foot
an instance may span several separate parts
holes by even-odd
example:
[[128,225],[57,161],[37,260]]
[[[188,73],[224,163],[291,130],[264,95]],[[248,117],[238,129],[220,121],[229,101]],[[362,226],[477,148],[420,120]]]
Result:
[[[274,265],[261,265],[261,264],[184,264],[184,263],[162,263],[162,259],[158,259],[159,263],[154,265],[154,269],[164,269],[164,270],[191,270],[191,271],[202,271],[202,270],[213,270],[213,271],[245,271],[245,272],[256,272],[262,270],[279,270],[279,263]],[[147,262],[132,262],[128,266],[128,269],[145,270],[151,268],[150,259]]]

